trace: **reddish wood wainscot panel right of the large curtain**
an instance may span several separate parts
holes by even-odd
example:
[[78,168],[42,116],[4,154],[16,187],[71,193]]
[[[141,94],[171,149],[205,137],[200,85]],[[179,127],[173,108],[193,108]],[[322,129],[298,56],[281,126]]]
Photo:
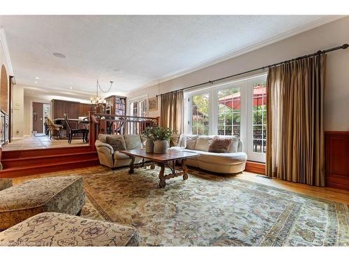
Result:
[[349,132],[325,132],[326,186],[349,190]]

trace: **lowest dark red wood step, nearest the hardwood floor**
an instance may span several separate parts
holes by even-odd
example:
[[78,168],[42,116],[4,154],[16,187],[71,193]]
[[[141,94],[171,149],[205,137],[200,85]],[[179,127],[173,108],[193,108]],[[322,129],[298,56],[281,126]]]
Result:
[[86,168],[90,166],[98,166],[99,159],[98,157],[94,159],[85,159],[79,161],[69,161],[65,163],[50,163],[50,164],[41,164],[36,166],[24,166],[24,167],[15,167],[15,168],[7,168],[3,171],[0,171],[1,177],[23,177],[27,175],[37,175],[40,173],[50,173],[55,171],[66,171],[73,168]]

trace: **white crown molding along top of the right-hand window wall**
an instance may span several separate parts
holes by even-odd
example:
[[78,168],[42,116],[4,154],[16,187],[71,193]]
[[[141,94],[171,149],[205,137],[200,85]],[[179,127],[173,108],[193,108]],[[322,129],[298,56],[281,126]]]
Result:
[[323,24],[328,24],[329,22],[334,22],[338,19],[341,19],[343,17],[346,17],[347,15],[327,15],[326,17],[322,17],[314,22],[311,22],[309,24],[306,24],[304,26],[299,26],[295,29],[292,29],[290,31],[287,31],[285,33],[282,33],[280,35],[277,35],[273,38],[269,38],[265,41],[261,41],[261,42],[258,42],[257,44],[255,45],[250,45],[248,47],[245,47],[243,49],[240,49],[236,52],[232,52],[232,53],[229,53],[229,54],[225,54],[219,58],[216,58],[214,60],[211,60],[211,61],[207,61],[207,62],[204,62],[204,63],[200,63],[198,65],[196,65],[195,67],[191,67],[191,68],[186,68],[184,70],[179,70],[177,72],[173,72],[171,74],[168,74],[168,75],[165,75],[165,77],[161,78],[161,79],[158,79],[156,81],[152,81],[151,83],[149,84],[145,84],[144,86],[140,87],[140,88],[137,88],[135,90],[132,90],[131,92],[129,93],[133,93],[137,90],[142,90],[144,88],[149,88],[151,86],[156,86],[156,84],[161,84],[165,81],[170,81],[174,78],[178,78],[178,77],[181,77],[181,76],[184,76],[186,74],[190,74],[191,72],[195,72],[195,71],[198,71],[198,70],[201,70],[201,69],[204,69],[204,68],[207,68],[211,65],[215,65],[217,63],[221,63],[223,61],[227,61],[231,58],[235,58],[237,56],[240,56],[242,54],[247,54],[248,52],[252,52],[256,49],[260,49],[262,47],[265,47],[267,45],[272,45],[274,42],[279,42],[281,40],[284,40],[286,38],[290,38],[291,36],[294,36],[294,35],[297,35],[299,33],[303,33],[305,31],[309,31],[311,29],[314,29],[318,26],[322,26]]

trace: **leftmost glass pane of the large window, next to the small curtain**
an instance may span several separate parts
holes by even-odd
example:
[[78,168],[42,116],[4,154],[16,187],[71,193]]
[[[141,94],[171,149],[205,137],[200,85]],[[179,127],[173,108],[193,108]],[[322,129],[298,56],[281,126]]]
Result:
[[191,105],[191,131],[193,134],[209,134],[209,94],[194,95]]

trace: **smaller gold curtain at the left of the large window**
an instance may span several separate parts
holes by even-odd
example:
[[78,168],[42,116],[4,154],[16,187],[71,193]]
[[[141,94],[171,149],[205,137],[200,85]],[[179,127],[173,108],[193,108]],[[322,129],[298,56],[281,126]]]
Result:
[[161,127],[184,132],[184,94],[183,90],[161,95]]

